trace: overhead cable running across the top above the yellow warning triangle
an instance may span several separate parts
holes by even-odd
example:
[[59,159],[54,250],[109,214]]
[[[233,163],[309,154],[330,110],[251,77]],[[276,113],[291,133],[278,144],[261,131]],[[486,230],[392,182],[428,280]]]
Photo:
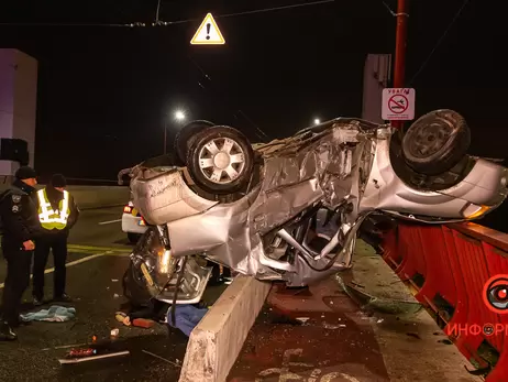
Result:
[[[216,15],[216,19],[220,18],[233,18],[240,15],[247,15],[247,14],[255,14],[255,13],[266,13],[266,12],[275,12],[281,10],[288,10],[294,8],[301,8],[301,7],[310,7],[310,6],[319,6],[324,3],[335,2],[335,0],[318,0],[311,2],[302,2],[302,3],[295,3],[288,6],[280,6],[280,7],[272,7],[272,8],[262,8],[255,9],[250,11],[242,11],[242,12],[234,12],[234,13],[227,13],[227,14],[219,14]],[[140,28],[140,26],[167,26],[167,25],[176,25],[176,24],[184,24],[200,21],[201,19],[187,19],[187,20],[176,20],[176,21],[159,21],[158,14],[161,9],[161,2],[157,2],[155,22],[146,23],[146,22],[132,22],[132,23],[21,23],[21,22],[0,22],[0,26],[110,26],[110,28]]]

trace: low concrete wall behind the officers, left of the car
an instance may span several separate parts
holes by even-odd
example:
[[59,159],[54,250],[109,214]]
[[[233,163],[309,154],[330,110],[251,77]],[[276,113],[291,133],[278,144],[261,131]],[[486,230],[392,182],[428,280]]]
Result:
[[[9,184],[0,184],[0,190]],[[44,185],[41,185],[44,187]],[[129,187],[120,186],[68,186],[80,209],[123,206],[129,201]]]

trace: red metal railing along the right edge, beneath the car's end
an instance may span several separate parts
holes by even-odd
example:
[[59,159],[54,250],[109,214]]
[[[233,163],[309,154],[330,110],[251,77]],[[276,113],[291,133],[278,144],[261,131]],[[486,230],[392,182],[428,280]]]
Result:
[[385,236],[385,261],[415,292],[487,382],[508,380],[508,310],[489,308],[486,283],[508,274],[508,234],[471,222],[399,223]]

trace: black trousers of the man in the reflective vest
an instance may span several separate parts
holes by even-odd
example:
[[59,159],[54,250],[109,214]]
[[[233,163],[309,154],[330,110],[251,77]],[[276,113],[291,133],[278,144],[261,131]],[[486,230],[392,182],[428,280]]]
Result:
[[44,270],[46,269],[49,250],[53,252],[55,274],[53,276],[54,297],[60,297],[65,293],[67,269],[67,234],[46,234],[35,241],[35,255],[33,264],[33,291],[34,297],[44,297]]

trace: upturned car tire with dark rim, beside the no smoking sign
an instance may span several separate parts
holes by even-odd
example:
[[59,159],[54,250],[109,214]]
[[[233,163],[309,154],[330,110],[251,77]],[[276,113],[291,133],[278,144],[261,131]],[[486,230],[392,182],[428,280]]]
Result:
[[402,138],[405,162],[423,175],[442,174],[466,155],[471,131],[453,110],[435,110],[413,122]]

